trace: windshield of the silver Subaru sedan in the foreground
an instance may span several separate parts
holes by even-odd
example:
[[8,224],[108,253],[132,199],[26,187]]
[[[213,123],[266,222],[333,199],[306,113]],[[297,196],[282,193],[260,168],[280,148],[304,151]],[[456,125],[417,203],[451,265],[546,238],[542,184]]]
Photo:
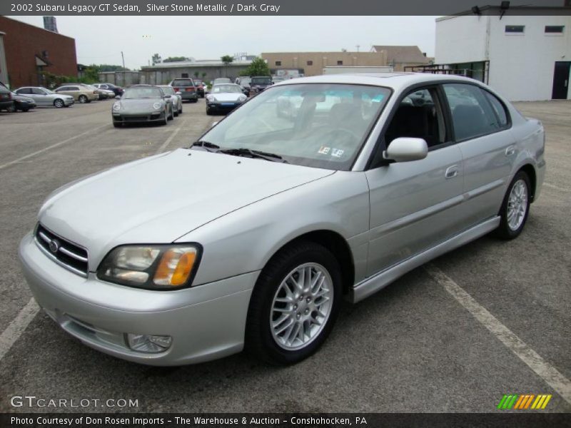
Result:
[[246,148],[295,165],[348,170],[390,94],[342,84],[274,86],[238,108],[201,141]]

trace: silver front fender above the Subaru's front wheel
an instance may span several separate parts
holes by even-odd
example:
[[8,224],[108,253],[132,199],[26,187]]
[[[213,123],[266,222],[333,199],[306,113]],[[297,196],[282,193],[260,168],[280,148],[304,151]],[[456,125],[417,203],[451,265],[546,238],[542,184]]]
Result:
[[177,242],[203,245],[194,284],[261,270],[286,243],[315,230],[350,240],[369,226],[368,184],[364,173],[338,171],[285,190],[211,221]]

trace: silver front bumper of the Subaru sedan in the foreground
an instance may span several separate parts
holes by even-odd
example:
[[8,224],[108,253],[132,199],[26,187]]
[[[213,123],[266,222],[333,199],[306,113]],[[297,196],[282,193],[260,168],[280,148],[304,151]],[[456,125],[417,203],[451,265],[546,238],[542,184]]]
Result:
[[[24,276],[38,304],[85,345],[124,360],[171,366],[215,360],[243,348],[259,272],[178,291],[140,290],[76,275],[46,257],[29,233],[20,243]],[[160,353],[131,350],[125,334],[169,335]]]

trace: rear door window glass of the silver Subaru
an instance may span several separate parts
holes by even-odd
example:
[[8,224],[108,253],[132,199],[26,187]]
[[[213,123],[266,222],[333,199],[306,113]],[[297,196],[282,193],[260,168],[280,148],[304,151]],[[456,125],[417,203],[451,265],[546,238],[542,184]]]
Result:
[[483,91],[464,83],[444,85],[444,92],[452,111],[452,121],[457,141],[499,131],[500,123]]

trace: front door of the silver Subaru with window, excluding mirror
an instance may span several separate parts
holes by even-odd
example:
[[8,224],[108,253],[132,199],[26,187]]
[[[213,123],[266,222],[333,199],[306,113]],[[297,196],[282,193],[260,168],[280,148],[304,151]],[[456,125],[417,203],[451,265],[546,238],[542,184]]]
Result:
[[464,228],[458,216],[463,160],[453,144],[437,86],[410,91],[395,107],[383,148],[399,137],[424,138],[420,161],[366,171],[370,188],[368,275],[387,269]]

